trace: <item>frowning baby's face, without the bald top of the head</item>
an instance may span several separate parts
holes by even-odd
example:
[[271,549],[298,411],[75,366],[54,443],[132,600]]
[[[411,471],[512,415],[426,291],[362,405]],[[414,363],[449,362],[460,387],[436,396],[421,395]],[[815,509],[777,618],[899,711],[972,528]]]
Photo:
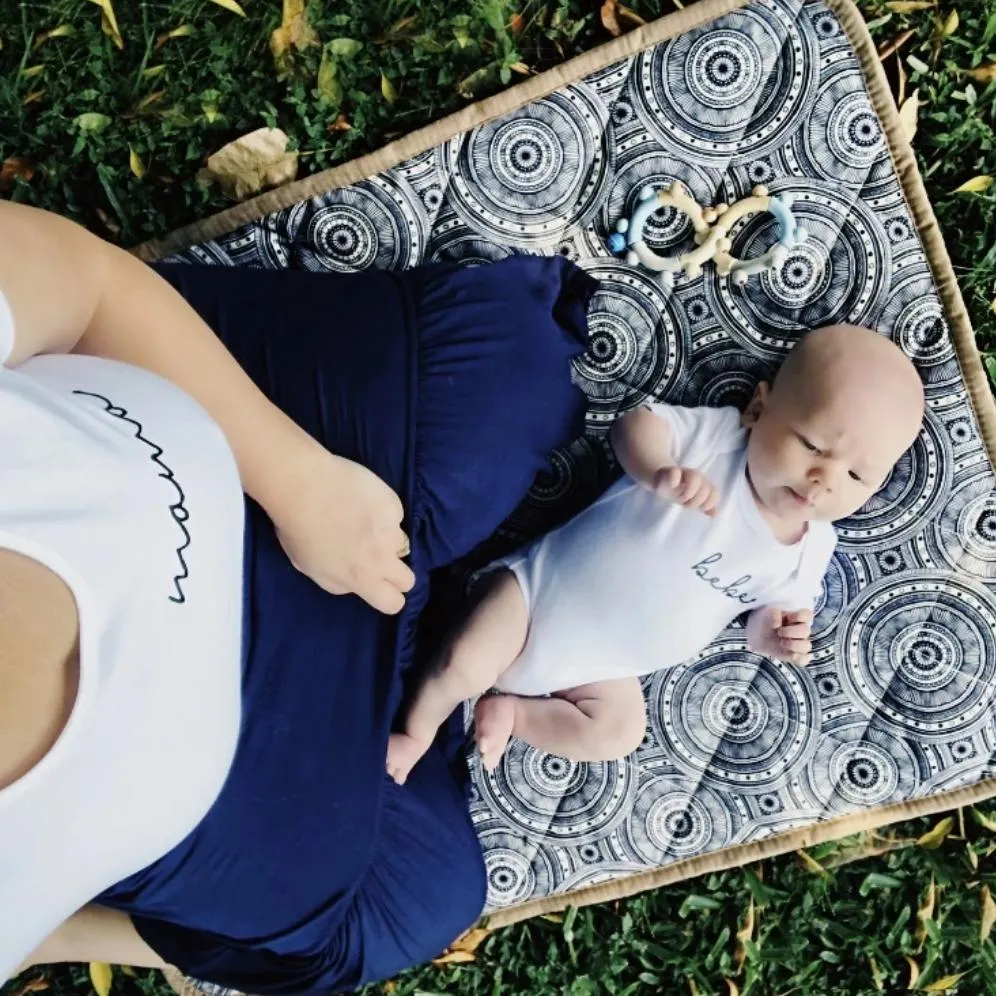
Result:
[[908,428],[884,393],[846,384],[828,392],[804,380],[761,390],[747,472],[769,516],[787,525],[833,522],[882,486],[909,446]]

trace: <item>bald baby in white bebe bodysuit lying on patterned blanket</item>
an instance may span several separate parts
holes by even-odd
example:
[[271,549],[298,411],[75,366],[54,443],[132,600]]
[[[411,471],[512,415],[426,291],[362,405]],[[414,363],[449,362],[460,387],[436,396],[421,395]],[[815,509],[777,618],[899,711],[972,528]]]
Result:
[[577,761],[646,729],[640,675],[707,646],[744,612],[759,654],[804,665],[836,543],[917,436],[923,388],[884,336],[809,333],[746,412],[648,404],[620,418],[625,476],[499,562],[421,685],[387,769],[403,783],[440,724],[475,710],[485,768],[511,737]]

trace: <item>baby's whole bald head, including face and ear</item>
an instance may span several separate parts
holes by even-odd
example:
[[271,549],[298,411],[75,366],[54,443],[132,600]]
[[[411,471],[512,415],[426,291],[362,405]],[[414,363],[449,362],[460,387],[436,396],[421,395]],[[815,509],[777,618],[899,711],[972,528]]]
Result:
[[885,336],[854,325],[810,332],[744,413],[755,495],[786,523],[846,518],[912,445],[923,405],[916,369]]

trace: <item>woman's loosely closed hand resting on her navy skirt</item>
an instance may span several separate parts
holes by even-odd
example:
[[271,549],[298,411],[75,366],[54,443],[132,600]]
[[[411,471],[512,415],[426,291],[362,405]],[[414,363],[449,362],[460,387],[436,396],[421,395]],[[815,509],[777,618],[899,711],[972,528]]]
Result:
[[284,552],[333,595],[352,592],[381,612],[400,612],[415,584],[402,559],[410,547],[400,499],[366,467],[311,442],[266,507]]

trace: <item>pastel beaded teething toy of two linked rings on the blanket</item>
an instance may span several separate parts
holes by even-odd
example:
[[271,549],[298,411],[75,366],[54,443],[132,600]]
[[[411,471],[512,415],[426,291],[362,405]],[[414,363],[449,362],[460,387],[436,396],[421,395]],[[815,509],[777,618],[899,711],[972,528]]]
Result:
[[[680,256],[661,256],[651,249],[643,239],[643,228],[647,219],[660,207],[670,206],[688,215],[695,230],[696,248]],[[766,252],[754,259],[737,259],[730,255],[732,240],[730,229],[743,217],[757,211],[767,211],[778,222],[778,241]],[[633,210],[631,218],[620,218],[616,231],[609,236],[609,251],[626,254],[626,262],[632,266],[638,263],[659,274],[658,279],[665,287],[671,287],[676,273],[684,273],[694,278],[702,272],[702,264],[712,261],[720,276],[729,276],[737,286],[747,282],[747,278],[762,273],[773,266],[780,266],[789,249],[806,240],[806,232],[792,214],[792,197],[789,194],[771,196],[766,187],[757,186],[750,197],[734,204],[716,204],[702,207],[680,181],[675,181],[664,190],[655,191],[644,187],[640,191],[640,202]]]

